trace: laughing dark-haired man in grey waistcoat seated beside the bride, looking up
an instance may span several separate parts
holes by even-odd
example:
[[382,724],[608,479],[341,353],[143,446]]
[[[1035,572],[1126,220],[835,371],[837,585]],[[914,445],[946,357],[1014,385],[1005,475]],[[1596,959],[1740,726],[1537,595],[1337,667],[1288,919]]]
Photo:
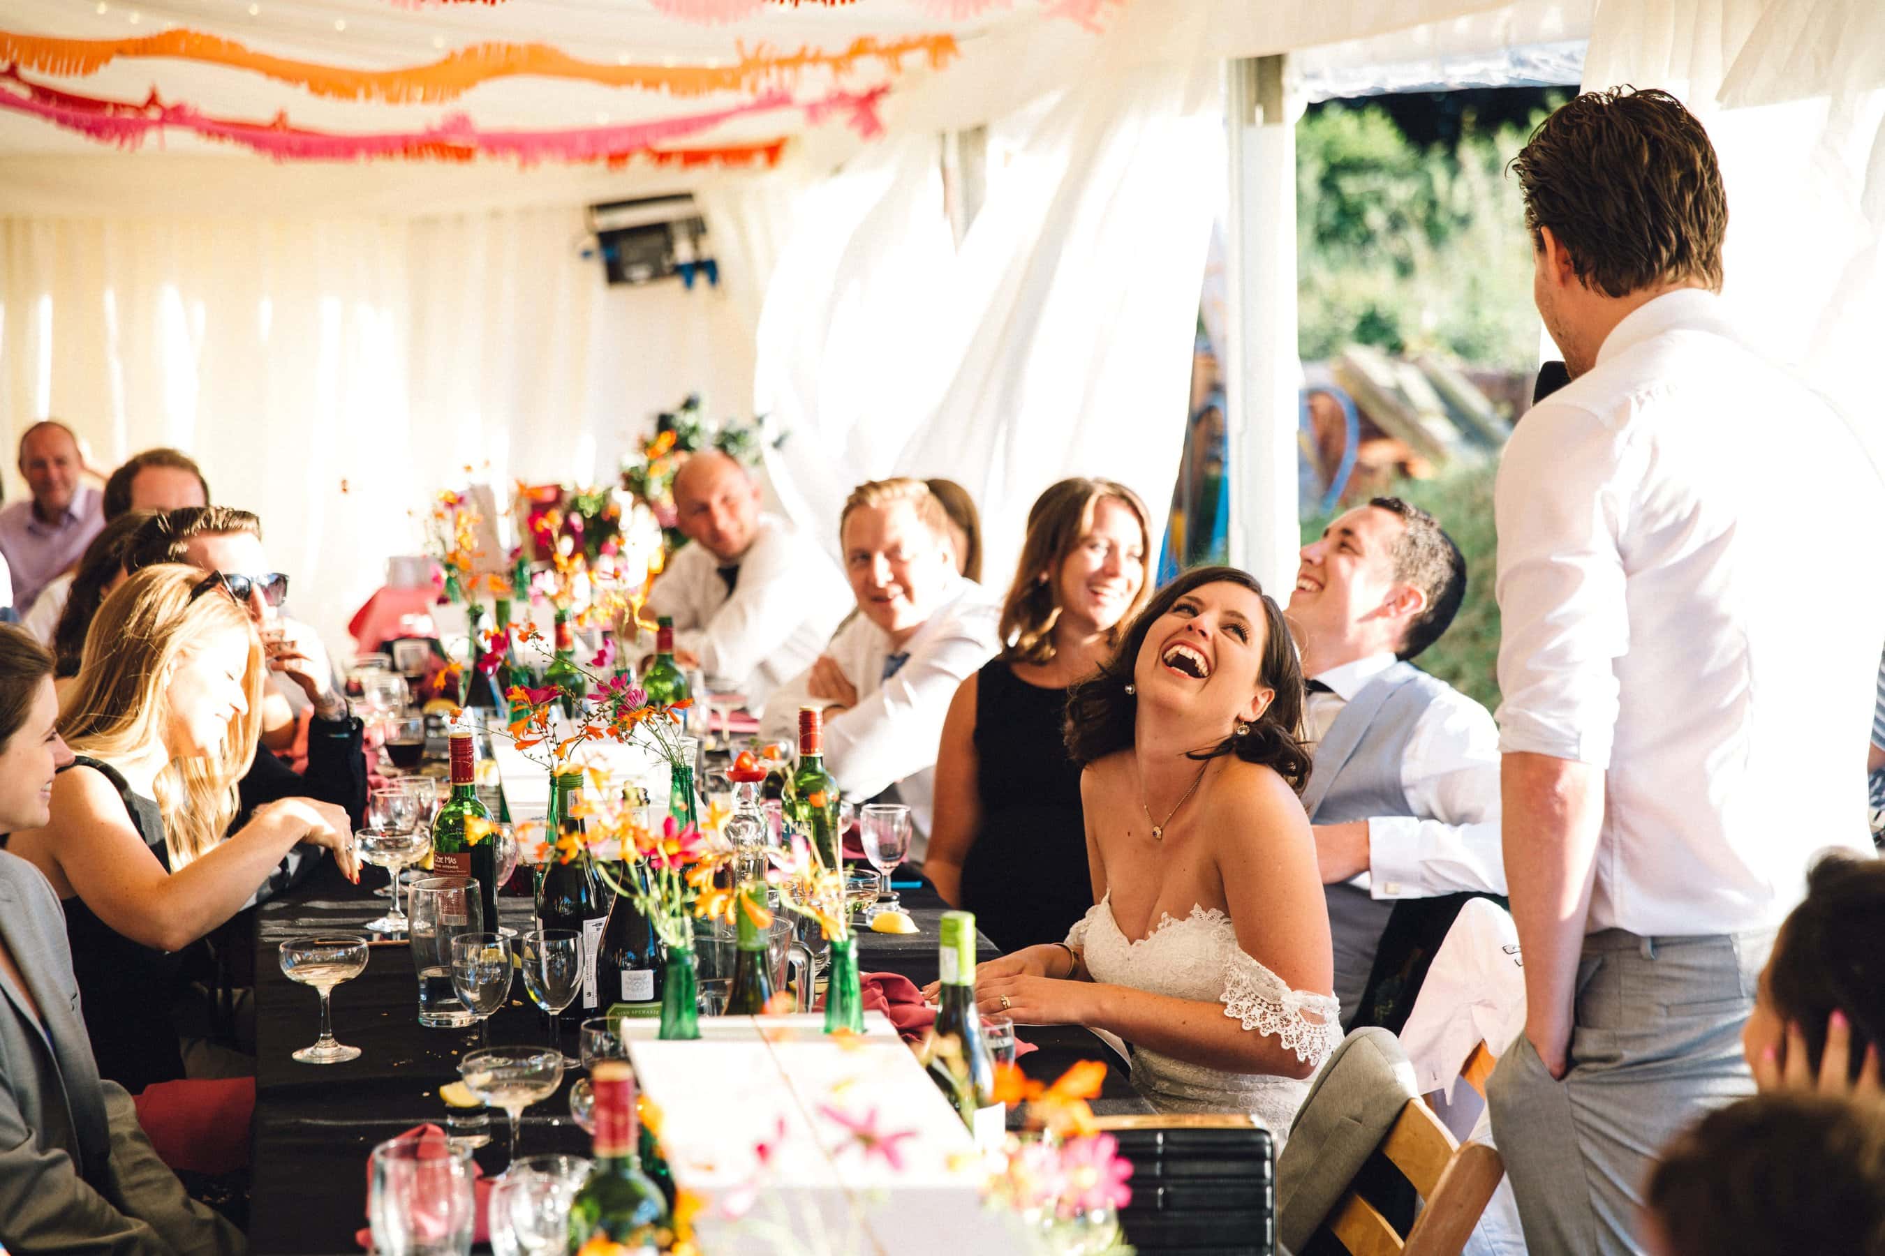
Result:
[[1467,563],[1440,523],[1376,497],[1303,546],[1308,808],[1329,896],[1342,1026],[1399,1032],[1453,915],[1504,894],[1499,729],[1410,663],[1453,621]]

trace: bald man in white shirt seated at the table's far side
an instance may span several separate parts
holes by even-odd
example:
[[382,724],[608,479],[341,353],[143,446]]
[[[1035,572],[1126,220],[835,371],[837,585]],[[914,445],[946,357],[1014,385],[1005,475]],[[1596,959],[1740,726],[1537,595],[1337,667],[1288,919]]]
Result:
[[824,650],[850,612],[850,591],[822,546],[760,512],[760,486],[718,450],[694,454],[675,473],[675,514],[694,544],[654,582],[648,608],[673,616],[682,667],[699,667],[763,710],[771,691]]

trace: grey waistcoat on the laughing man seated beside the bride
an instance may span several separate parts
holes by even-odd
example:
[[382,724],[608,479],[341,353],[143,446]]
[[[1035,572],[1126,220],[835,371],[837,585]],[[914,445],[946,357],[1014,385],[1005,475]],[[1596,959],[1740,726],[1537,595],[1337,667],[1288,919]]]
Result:
[[[1412,815],[1401,789],[1401,761],[1421,714],[1446,689],[1412,663],[1395,663],[1370,680],[1329,725],[1316,746],[1303,806],[1312,825],[1340,825],[1374,815]],[[1342,1024],[1355,1017],[1374,968],[1374,949],[1395,902],[1372,898],[1348,883],[1325,885],[1329,934],[1335,942],[1335,996]]]

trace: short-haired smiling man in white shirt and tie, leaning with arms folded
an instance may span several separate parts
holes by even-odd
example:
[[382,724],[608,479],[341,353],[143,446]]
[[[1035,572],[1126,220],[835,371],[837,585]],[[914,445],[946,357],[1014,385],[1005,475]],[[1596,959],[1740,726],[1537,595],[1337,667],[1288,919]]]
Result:
[[839,516],[858,603],[803,674],[767,704],[762,733],[790,740],[801,704],[824,704],[826,768],[852,802],[895,785],[927,847],[937,748],[956,687],[995,657],[1001,608],[956,572],[948,512],[922,480],[860,484]]

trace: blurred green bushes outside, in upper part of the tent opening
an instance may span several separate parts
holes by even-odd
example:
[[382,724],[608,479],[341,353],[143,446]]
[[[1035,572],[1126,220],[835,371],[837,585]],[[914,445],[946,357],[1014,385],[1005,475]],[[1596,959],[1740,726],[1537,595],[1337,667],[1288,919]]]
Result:
[[[1534,115],[1534,122],[1544,111]],[[1538,360],[1531,239],[1506,162],[1529,128],[1467,126],[1421,149],[1385,109],[1327,104],[1297,126],[1297,346]]]

